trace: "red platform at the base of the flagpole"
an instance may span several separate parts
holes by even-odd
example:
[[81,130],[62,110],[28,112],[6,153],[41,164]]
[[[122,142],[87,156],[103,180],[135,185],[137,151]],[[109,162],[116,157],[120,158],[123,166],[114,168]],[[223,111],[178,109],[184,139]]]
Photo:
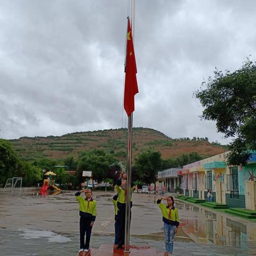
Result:
[[115,250],[113,245],[102,244],[99,249],[91,249],[89,252],[80,252],[78,256],[163,256],[164,252],[156,252],[152,247],[130,246],[130,252]]

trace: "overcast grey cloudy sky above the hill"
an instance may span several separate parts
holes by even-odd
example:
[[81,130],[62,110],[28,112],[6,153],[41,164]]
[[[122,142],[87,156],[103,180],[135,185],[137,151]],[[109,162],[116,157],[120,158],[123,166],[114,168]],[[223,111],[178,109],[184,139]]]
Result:
[[[255,13],[253,0],[136,0],[134,126],[227,143],[193,91],[256,58]],[[127,0],[1,0],[0,137],[121,127],[126,16]]]

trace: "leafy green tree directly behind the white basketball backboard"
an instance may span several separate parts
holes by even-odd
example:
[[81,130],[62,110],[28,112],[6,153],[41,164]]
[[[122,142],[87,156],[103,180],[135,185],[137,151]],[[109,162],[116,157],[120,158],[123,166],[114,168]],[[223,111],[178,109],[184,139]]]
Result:
[[111,166],[117,164],[113,155],[106,153],[103,150],[94,149],[83,151],[79,154],[77,164],[77,179],[78,182],[83,182],[82,171],[92,171],[94,180],[101,182],[105,178],[110,178],[109,173]]

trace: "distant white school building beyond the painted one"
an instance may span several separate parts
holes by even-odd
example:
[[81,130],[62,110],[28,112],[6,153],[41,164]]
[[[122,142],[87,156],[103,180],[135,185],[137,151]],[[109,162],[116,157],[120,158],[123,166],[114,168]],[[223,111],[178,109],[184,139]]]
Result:
[[[158,190],[163,190],[165,192],[175,193],[177,187],[182,186],[182,169],[171,168],[161,172],[158,172]],[[161,189],[162,188],[162,189]]]

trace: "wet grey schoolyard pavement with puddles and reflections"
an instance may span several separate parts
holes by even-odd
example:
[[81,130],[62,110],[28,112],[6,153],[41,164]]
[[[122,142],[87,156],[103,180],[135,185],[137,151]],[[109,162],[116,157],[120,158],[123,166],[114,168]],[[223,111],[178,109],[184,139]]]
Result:
[[[74,192],[75,193],[75,192]],[[0,255],[77,255],[78,203],[74,193],[0,194]],[[95,192],[98,213],[91,246],[113,244],[114,193]],[[131,244],[164,251],[155,195],[133,194]],[[256,223],[176,201],[180,228],[174,255],[256,255]]]

